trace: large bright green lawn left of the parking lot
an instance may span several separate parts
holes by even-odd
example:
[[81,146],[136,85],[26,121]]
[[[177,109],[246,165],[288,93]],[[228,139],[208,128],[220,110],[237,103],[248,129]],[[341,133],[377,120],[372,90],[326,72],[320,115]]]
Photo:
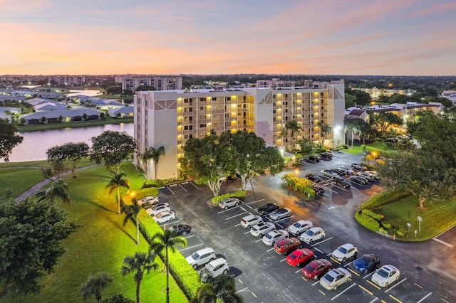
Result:
[[[132,182],[131,190],[134,191],[140,188],[136,186],[142,184],[143,177],[138,173],[133,174],[132,167],[128,164],[123,170],[127,172],[127,178]],[[9,170],[1,170],[4,171]],[[12,182],[23,180],[23,176],[19,174],[15,175],[14,179],[12,175],[8,178]],[[61,201],[56,201],[56,204],[66,209],[69,219],[81,225],[81,228],[64,241],[66,253],[59,259],[55,272],[41,280],[43,289],[40,294],[21,298],[3,297],[0,302],[82,302],[81,284],[97,272],[108,272],[113,277],[113,283],[103,291],[103,298],[122,292],[126,297],[135,299],[136,285],[133,275],[121,276],[120,267],[123,265],[123,257],[137,251],[145,252],[148,245],[144,238],[140,239],[140,245],[135,244],[136,231],[133,223],[128,222],[123,227],[124,215],[116,213],[115,195],[109,197],[105,191],[110,173],[105,166],[96,166],[79,171],[76,179],[71,176],[64,179],[70,189],[71,204],[64,206]],[[155,260],[160,267],[159,270],[145,275],[142,280],[141,302],[165,302],[166,275],[160,258]],[[171,276],[170,301],[187,302]],[[95,302],[95,299],[88,302]]]

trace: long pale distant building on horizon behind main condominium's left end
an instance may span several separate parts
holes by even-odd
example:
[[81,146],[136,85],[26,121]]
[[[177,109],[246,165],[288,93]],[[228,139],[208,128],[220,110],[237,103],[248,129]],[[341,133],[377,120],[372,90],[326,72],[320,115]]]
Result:
[[148,85],[156,90],[182,90],[182,77],[174,76],[118,76],[116,83],[122,83],[122,90],[135,91],[138,86]]

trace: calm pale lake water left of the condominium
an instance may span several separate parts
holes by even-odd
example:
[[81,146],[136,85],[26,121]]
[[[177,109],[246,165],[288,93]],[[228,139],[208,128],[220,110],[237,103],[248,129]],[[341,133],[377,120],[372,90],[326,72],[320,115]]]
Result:
[[[14,147],[10,162],[46,160],[46,151],[56,145],[68,142],[86,142],[90,147],[91,137],[98,136],[105,130],[116,132],[127,132],[133,137],[133,123],[127,124],[107,124],[97,127],[81,127],[74,129],[52,129],[38,132],[22,132],[24,141]],[[3,159],[1,160],[3,162]]]

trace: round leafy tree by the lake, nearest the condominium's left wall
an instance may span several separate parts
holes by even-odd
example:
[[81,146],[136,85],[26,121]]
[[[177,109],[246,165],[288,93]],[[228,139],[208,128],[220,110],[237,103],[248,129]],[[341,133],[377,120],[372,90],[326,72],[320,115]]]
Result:
[[100,164],[105,161],[108,170],[117,174],[123,161],[137,148],[136,140],[126,132],[106,130],[97,137],[92,137],[90,160]]

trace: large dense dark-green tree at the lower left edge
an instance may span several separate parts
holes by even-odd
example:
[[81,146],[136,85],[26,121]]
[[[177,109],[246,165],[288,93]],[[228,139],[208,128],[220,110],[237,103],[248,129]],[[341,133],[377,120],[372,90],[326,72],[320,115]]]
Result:
[[62,240],[77,230],[53,202],[29,196],[0,207],[0,296],[39,292],[65,252]]

